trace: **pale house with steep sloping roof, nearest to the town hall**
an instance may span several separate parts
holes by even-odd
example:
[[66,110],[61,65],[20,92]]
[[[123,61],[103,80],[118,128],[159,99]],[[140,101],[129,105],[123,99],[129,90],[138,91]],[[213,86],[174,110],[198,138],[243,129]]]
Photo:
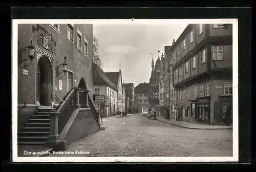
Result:
[[[105,75],[102,69],[96,64],[94,67],[94,90],[95,95],[105,96],[104,113],[103,117],[109,117],[115,115],[117,112],[117,95],[118,90],[116,85],[111,82],[108,76]],[[99,110],[101,103],[94,102],[95,109]]]

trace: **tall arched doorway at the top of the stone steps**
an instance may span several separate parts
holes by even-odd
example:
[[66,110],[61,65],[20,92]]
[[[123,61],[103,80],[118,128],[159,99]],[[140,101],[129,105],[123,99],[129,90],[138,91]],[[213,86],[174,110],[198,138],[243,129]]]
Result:
[[42,55],[37,63],[37,100],[40,105],[52,105],[52,65],[46,55]]

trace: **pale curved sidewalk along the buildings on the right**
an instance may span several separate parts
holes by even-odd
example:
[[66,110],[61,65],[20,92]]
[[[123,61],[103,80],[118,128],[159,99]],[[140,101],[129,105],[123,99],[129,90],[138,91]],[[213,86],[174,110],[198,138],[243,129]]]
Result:
[[190,122],[183,122],[183,121],[175,121],[175,120],[168,120],[161,116],[157,116],[157,120],[166,122],[172,125],[181,126],[183,128],[189,129],[201,129],[201,130],[223,130],[223,129],[232,129],[232,126],[225,126],[225,125],[202,125],[202,124],[195,124]]

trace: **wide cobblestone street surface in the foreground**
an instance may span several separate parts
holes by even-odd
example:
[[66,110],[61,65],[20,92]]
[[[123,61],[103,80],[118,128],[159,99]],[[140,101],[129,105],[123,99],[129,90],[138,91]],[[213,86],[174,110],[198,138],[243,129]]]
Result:
[[147,119],[145,114],[104,120],[103,125],[107,126],[106,130],[70,144],[66,153],[77,154],[56,155],[52,153],[49,156],[232,156],[232,130],[230,129],[188,129],[159,120]]

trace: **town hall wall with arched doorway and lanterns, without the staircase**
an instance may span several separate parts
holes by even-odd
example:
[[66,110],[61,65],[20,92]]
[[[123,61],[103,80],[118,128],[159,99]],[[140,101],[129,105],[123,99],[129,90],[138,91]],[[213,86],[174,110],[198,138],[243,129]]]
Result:
[[[57,105],[73,87],[89,90],[92,98],[92,38],[89,24],[18,25],[18,107],[27,104],[18,112],[18,128],[38,106]],[[31,44],[35,58],[30,61],[27,47]],[[67,69],[62,69],[64,62]]]

